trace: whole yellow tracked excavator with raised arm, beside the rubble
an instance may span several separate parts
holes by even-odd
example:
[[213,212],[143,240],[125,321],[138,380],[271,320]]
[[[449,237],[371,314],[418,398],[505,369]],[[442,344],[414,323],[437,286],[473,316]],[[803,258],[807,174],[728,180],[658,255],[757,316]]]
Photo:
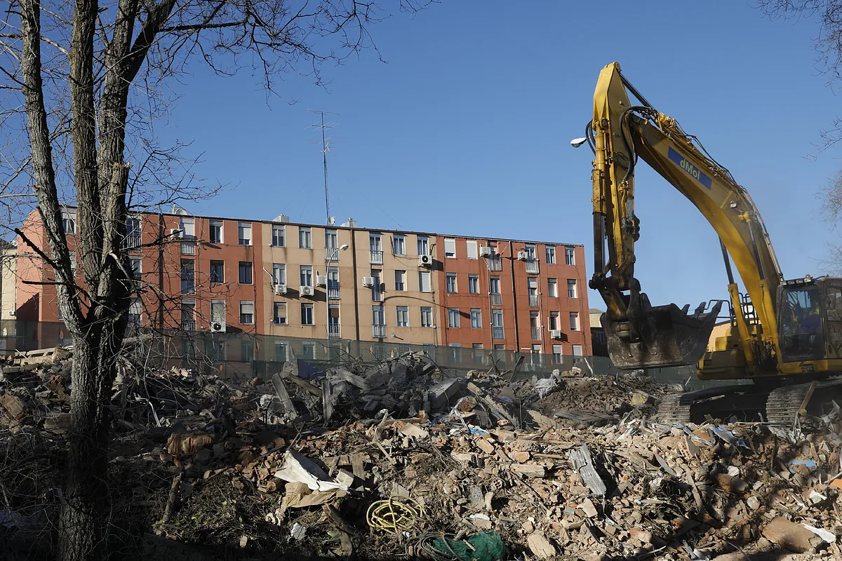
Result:
[[[629,99],[629,93],[635,103]],[[823,398],[842,391],[828,378],[842,373],[842,278],[785,280],[763,220],[749,193],[675,119],[659,113],[613,63],[600,72],[594,118],[585,129],[594,151],[594,276],[607,311],[601,317],[617,368],[697,364],[701,379],[750,379],[754,384],[702,389],[664,400],[666,421],[748,410],[790,425]],[[634,172],[646,162],[701,211],[719,236],[728,299],[653,306],[634,277],[640,221]],[[733,267],[743,281],[741,294]],[[669,272],[670,274],[679,274]],[[723,305],[730,327],[707,352]],[[723,312],[724,315],[724,312]],[[822,395],[822,398],[813,397]],[[702,406],[702,404],[706,404]],[[726,415],[727,416],[727,415]]]

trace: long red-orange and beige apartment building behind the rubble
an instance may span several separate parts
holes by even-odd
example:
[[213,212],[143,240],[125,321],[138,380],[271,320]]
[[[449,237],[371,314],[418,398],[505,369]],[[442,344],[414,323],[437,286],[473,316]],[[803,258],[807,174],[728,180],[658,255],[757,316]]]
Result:
[[[75,209],[62,224],[74,249]],[[37,214],[23,227],[45,247]],[[584,247],[343,225],[137,214],[131,322],[183,331],[589,355]],[[19,240],[19,320],[60,321]],[[48,283],[43,283],[47,281]],[[245,350],[243,351],[245,352]]]

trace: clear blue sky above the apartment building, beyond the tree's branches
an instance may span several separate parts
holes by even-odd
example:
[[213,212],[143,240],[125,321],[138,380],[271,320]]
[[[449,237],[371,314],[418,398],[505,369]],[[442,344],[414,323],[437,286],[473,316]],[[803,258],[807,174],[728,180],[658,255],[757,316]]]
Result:
[[[384,0],[385,1],[385,0]],[[598,7],[599,6],[599,7]],[[817,161],[838,99],[813,64],[818,28],[770,21],[750,3],[509,3],[443,0],[372,29],[369,50],[325,66],[327,88],[289,75],[267,103],[250,72],[197,68],[178,85],[165,138],[204,153],[200,177],[229,186],[195,214],[322,223],[317,118],[330,132],[331,214],[361,226],[584,244],[593,273],[590,161],[582,135],[600,69],[619,61],[748,188],[787,277],[825,273],[818,188],[842,167]],[[653,304],[727,298],[717,236],[694,207],[637,167],[637,278]],[[592,307],[602,304],[589,294]]]

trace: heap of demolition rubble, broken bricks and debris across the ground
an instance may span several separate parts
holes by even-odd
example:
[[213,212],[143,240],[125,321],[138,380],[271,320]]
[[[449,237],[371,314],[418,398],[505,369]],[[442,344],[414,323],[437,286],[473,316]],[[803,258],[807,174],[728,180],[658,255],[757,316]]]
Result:
[[[72,356],[43,354],[3,367],[0,436],[56,458]],[[265,380],[124,366],[110,461],[169,542],[249,558],[842,557],[834,415],[807,434],[666,426],[654,414],[674,388],[646,376],[447,376],[416,353],[294,360]],[[3,499],[0,532],[34,505]]]

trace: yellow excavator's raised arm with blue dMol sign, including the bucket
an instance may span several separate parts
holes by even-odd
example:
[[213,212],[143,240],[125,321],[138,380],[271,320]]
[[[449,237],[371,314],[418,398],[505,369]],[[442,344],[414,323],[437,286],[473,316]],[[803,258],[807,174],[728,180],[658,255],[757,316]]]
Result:
[[[632,104],[628,93],[637,98]],[[634,213],[634,172],[646,162],[701,211],[722,244],[728,292],[736,315],[746,368],[769,368],[778,350],[775,290],[781,269],[749,193],[679,124],[658,113],[637,93],[620,65],[600,73],[588,140],[594,150],[594,276],[607,311],[601,323],[612,361],[619,368],[652,368],[698,362],[722,301],[710,309],[652,306],[634,277],[634,244],[640,222]],[[757,321],[746,320],[728,256],[743,281]]]

